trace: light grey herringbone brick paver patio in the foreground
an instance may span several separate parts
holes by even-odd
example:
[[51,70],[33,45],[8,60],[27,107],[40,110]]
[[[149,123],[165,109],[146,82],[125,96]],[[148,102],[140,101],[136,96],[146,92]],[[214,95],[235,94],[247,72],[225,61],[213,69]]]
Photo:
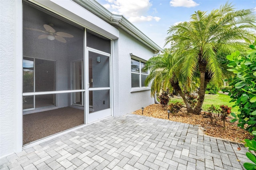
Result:
[[242,144],[198,135],[195,125],[127,114],[4,157],[0,169],[241,170],[246,152]]

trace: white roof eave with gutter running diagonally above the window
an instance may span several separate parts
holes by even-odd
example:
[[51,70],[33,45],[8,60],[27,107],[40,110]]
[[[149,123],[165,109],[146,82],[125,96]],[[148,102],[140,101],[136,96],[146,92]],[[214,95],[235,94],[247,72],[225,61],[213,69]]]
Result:
[[90,12],[94,13],[98,17],[106,20],[113,26],[118,26],[121,29],[128,32],[134,38],[144,43],[154,51],[162,51],[163,49],[154,43],[150,38],[143,34],[138,28],[136,28],[131,22],[129,22],[124,16],[118,14],[112,14],[104,6],[99,4],[95,0],[73,0],[74,2],[80,4]]

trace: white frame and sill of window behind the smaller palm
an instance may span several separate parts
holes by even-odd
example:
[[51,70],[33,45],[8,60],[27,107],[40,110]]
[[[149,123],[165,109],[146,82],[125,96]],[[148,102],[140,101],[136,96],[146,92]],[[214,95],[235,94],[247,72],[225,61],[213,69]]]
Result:
[[[132,55],[132,57],[131,57],[131,60],[136,60],[136,61],[139,61],[139,65],[140,65],[140,72],[139,73],[137,73],[137,72],[132,72],[132,70],[131,70],[131,75],[132,75],[132,73],[133,74],[139,74],[140,76],[139,76],[139,87],[131,87],[132,89],[131,89],[131,92],[136,92],[136,91],[145,91],[145,90],[150,90],[150,87],[149,86],[143,86],[142,87],[142,81],[141,81],[141,75],[147,75],[148,76],[148,71],[147,71],[147,73],[142,73],[141,72],[141,63],[146,63],[147,61],[146,60],[144,60],[144,59],[141,59],[141,58],[139,58],[139,57],[134,57],[134,55]],[[130,68],[132,68],[132,65],[130,66]],[[131,81],[132,81],[132,77],[131,77]]]

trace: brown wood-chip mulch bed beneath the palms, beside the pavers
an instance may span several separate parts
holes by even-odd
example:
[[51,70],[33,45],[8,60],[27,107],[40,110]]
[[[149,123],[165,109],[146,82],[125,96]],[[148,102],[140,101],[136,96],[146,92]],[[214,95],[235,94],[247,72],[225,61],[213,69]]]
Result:
[[[142,110],[134,111],[133,114],[142,115]],[[143,116],[155,117],[160,119],[168,119],[167,110],[164,110],[162,105],[153,104],[144,108]],[[188,114],[186,108],[182,108],[182,111],[174,114],[170,113],[170,121],[188,123],[192,125],[199,125],[203,127],[204,134],[208,136],[218,137],[231,142],[244,143],[244,139],[252,139],[249,132],[237,126],[237,123],[230,123],[230,118],[226,120],[225,127],[223,122],[217,122],[216,125],[210,123],[210,119],[201,115]]]

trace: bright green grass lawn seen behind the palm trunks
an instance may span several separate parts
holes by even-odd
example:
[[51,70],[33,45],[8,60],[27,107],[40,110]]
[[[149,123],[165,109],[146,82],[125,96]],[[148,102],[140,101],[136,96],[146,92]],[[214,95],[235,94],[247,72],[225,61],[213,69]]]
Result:
[[[231,99],[228,95],[225,95],[223,93],[217,93],[217,95],[205,95],[204,103],[202,106],[202,109],[204,111],[207,111],[207,109],[213,104],[216,108],[220,109],[220,105],[228,105],[228,107],[232,107],[235,105],[235,102],[229,102]],[[170,103],[176,103],[176,102],[182,102],[183,100],[171,98]],[[232,112],[238,114],[238,107],[233,107],[231,109]]]

